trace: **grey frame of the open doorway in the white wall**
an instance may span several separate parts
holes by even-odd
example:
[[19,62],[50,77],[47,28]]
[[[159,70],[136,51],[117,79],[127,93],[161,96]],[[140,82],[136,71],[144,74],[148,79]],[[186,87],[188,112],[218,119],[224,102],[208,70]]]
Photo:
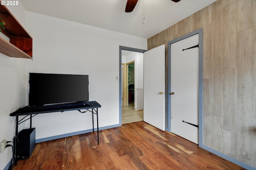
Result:
[[144,53],[147,50],[119,46],[119,126],[122,126],[122,50]]

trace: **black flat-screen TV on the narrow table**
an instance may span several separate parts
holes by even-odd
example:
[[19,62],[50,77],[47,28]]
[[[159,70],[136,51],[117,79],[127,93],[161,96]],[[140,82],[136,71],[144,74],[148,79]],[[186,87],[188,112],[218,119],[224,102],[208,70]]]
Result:
[[88,75],[29,73],[30,107],[89,100]]

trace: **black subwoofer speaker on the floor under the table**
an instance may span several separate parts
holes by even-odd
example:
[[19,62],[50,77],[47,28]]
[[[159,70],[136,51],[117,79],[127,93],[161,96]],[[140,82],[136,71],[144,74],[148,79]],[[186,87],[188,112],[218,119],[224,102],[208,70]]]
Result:
[[22,160],[30,158],[36,146],[36,128],[23,129],[18,133],[16,143],[16,159]]

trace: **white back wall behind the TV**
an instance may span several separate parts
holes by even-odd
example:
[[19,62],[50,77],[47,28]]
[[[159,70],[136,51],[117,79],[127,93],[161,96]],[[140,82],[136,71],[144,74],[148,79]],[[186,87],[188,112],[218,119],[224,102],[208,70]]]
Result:
[[[27,12],[26,24],[33,37],[33,60],[26,61],[26,82],[28,72],[88,74],[89,100],[102,105],[99,127],[119,125],[119,46],[146,49],[147,39],[31,12]],[[92,129],[91,114],[41,114],[33,118],[32,126],[36,127],[36,139],[83,131]]]

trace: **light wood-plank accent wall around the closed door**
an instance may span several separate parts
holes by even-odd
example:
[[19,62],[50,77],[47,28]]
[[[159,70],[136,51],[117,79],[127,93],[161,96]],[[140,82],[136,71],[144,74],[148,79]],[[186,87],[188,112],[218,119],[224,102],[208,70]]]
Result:
[[166,75],[168,41],[199,28],[203,145],[256,168],[256,0],[218,0],[150,37],[148,50],[166,45]]

